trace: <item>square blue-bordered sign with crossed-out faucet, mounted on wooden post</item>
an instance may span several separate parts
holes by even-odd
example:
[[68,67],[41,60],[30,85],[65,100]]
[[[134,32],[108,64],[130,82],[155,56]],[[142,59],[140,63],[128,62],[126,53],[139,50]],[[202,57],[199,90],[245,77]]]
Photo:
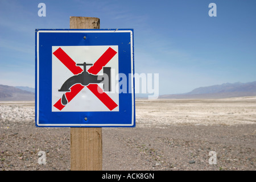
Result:
[[133,29],[36,30],[38,127],[135,127]]

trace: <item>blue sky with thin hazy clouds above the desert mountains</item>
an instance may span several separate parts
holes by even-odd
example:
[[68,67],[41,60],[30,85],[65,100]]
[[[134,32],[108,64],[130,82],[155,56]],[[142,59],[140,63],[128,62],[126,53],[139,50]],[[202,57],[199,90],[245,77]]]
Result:
[[135,73],[159,73],[160,95],[256,81],[255,9],[255,0],[1,0],[0,84],[35,88],[35,29],[69,28],[69,16],[133,28]]

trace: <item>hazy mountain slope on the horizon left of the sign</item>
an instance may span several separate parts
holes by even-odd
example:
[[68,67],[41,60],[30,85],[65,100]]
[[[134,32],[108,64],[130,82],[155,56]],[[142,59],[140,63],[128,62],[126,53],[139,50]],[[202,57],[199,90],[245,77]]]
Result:
[[15,86],[0,85],[0,101],[34,101],[35,93],[24,89],[27,87],[19,89]]

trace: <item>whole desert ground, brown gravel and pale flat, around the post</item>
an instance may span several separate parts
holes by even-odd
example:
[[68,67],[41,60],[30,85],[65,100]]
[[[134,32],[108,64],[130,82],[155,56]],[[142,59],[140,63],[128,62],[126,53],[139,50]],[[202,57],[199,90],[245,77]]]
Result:
[[[34,104],[0,102],[0,171],[70,170],[70,129],[35,127]],[[256,97],[137,100],[135,107],[135,128],[102,128],[103,170],[255,171]]]

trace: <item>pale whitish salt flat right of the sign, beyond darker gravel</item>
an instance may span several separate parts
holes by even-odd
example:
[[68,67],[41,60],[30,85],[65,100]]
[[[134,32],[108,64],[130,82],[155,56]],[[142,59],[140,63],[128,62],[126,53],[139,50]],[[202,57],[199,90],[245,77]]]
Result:
[[254,124],[256,97],[138,100],[136,119],[141,126]]

